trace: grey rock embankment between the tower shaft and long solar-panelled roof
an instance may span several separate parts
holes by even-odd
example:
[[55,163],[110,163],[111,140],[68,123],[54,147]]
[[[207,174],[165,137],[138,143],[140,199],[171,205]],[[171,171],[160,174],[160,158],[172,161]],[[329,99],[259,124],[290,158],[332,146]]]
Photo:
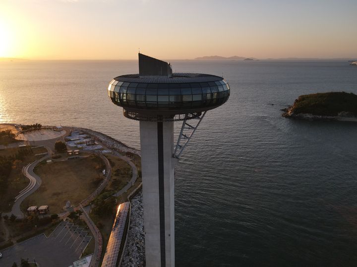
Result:
[[131,199],[130,227],[121,267],[145,266],[142,191]]

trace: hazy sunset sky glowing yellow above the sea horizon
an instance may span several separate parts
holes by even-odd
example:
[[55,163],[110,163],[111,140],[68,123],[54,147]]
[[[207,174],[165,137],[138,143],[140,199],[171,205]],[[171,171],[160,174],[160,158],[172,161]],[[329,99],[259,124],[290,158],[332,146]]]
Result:
[[0,0],[0,57],[357,58],[357,0]]

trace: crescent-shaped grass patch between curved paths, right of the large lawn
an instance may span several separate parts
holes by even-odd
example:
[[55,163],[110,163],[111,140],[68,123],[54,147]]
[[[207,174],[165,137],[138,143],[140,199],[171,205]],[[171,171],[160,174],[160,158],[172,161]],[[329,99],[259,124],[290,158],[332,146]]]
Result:
[[117,192],[123,188],[131,179],[131,167],[124,160],[113,154],[105,154],[112,166],[112,178],[105,187],[105,191]]

